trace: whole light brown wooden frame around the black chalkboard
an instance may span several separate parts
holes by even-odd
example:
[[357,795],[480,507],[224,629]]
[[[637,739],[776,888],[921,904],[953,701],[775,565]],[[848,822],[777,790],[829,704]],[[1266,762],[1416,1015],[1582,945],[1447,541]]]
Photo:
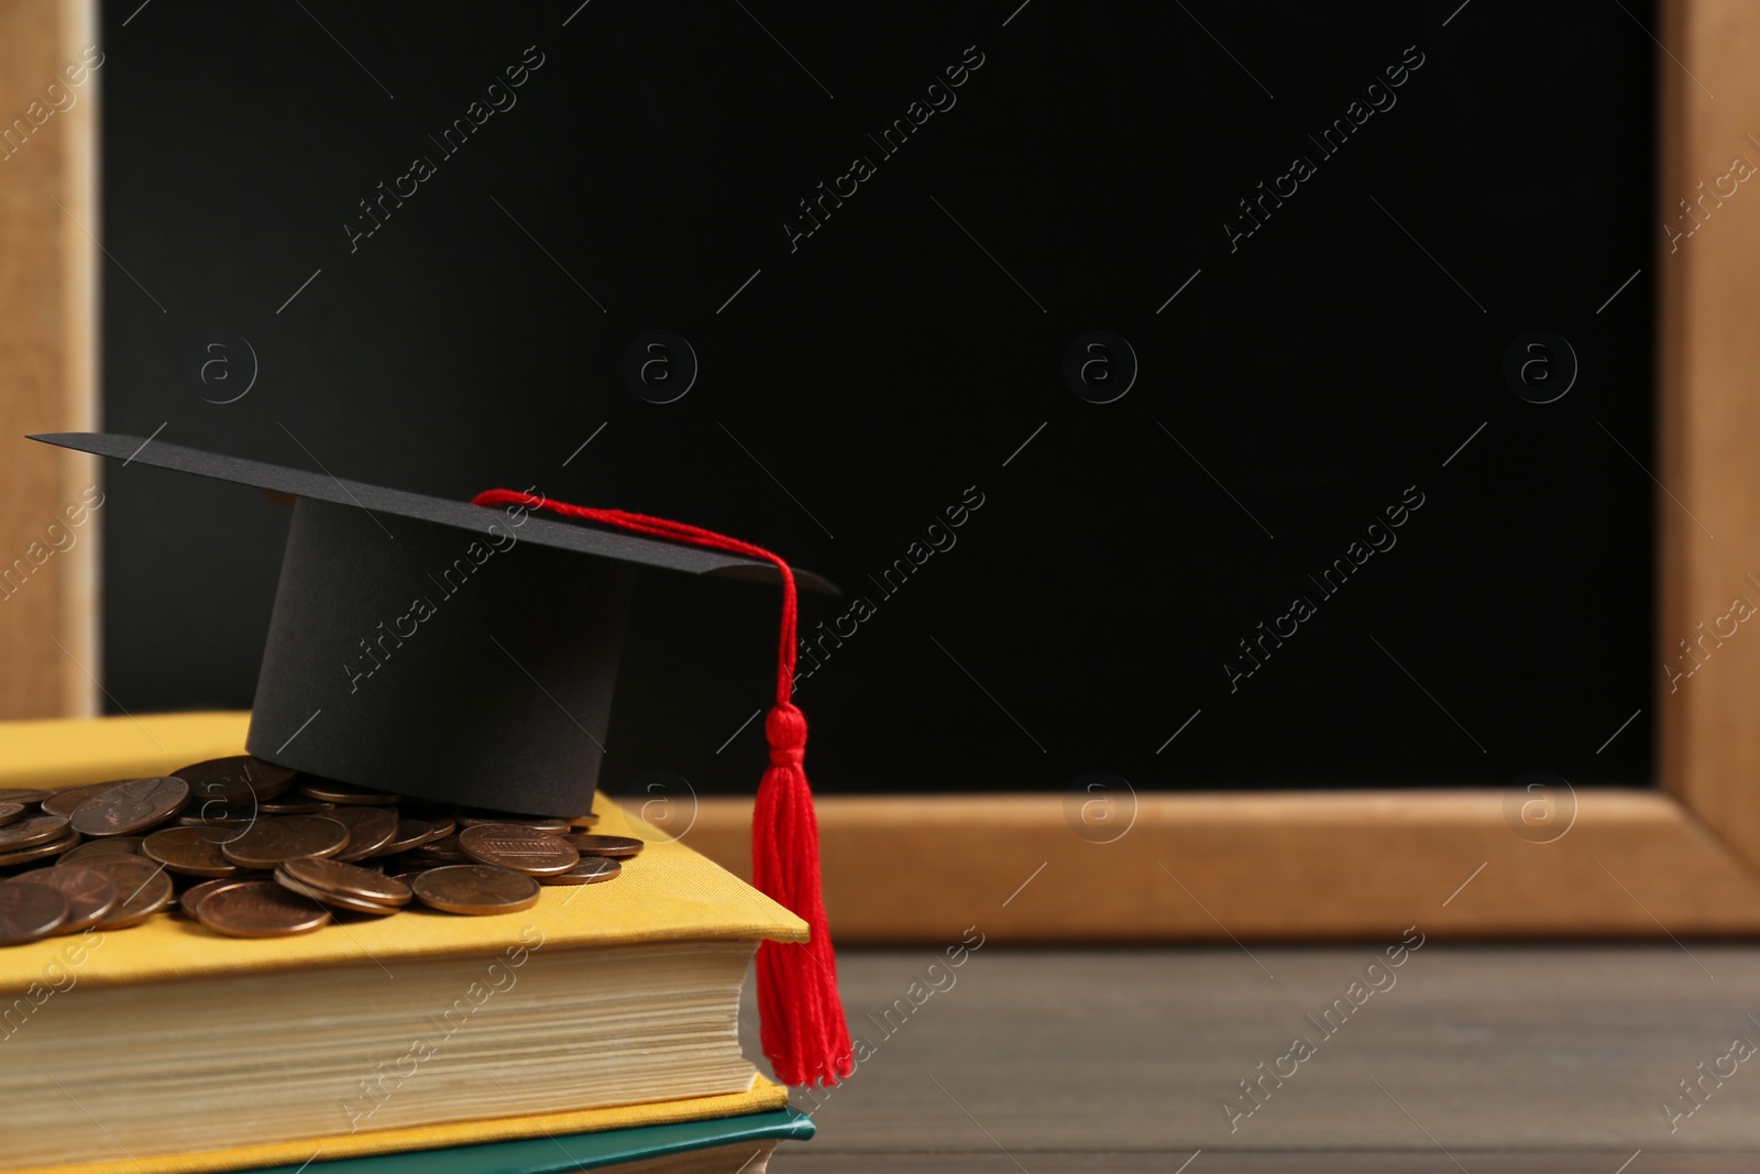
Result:
[[[84,0],[0,5],[0,114],[21,109],[76,32]],[[1760,7],[1748,0],[1663,0],[1658,37],[1661,160],[1658,206],[1700,194],[1732,155],[1760,160]],[[1704,88],[1704,86],[1709,86]],[[1716,99],[1711,97],[1716,92]],[[90,118],[90,104],[83,118]],[[92,250],[67,225],[95,225],[90,130],[32,144],[28,165],[0,167],[0,364],[7,435],[92,422]],[[83,155],[81,155],[83,153]],[[21,178],[23,176],[23,178]],[[44,199],[60,192],[70,216]],[[44,211],[48,209],[48,211]],[[60,218],[60,220],[58,220]],[[60,227],[56,227],[60,225]],[[1697,639],[1760,577],[1760,195],[1716,204],[1700,239],[1660,234],[1647,278],[1660,283],[1658,649]],[[69,454],[25,452],[0,468],[0,553],[53,512]],[[1688,509],[1691,514],[1688,514]],[[1700,528],[1704,526],[1704,530]],[[1707,537],[1714,533],[1716,539]],[[42,595],[49,595],[44,591]],[[12,607],[12,611],[7,611]],[[23,620],[28,614],[30,620]],[[0,711],[28,716],[60,697],[90,708],[67,657],[33,632],[56,630],[76,657],[95,653],[90,567],[55,600],[0,605]],[[1552,843],[1517,836],[1501,790],[1140,796],[1116,808],[1128,831],[1089,843],[1063,796],[825,797],[818,804],[825,899],[836,936],[956,942],[1130,942],[1362,936],[1406,926],[1443,936],[1734,935],[1760,929],[1760,637],[1716,646],[1704,674],[1670,692],[1658,674],[1661,792],[1584,790]],[[40,683],[53,679],[55,690]],[[748,868],[750,801],[674,806],[688,843]],[[658,815],[658,811],[649,811]]]

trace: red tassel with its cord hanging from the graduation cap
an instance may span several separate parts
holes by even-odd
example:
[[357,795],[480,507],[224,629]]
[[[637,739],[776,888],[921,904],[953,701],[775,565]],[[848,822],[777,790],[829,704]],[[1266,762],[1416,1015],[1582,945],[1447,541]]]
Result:
[[785,1084],[836,1084],[855,1070],[850,1030],[838,998],[838,961],[825,926],[818,887],[818,820],[806,783],[806,716],[794,706],[796,595],[794,572],[781,556],[727,535],[627,510],[551,502],[512,489],[488,489],[473,505],[524,505],[563,517],[762,558],[781,576],[781,642],[776,651],[776,704],[764,718],[769,769],[759,783],[752,815],[752,880],[759,891],[806,922],[804,945],[759,945],[759,1014],[764,1054]]

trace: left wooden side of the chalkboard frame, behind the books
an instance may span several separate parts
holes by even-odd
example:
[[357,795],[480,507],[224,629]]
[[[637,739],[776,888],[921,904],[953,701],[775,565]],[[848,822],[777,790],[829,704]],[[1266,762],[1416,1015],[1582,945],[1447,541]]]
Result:
[[[0,4],[0,716],[7,718],[97,713],[97,526],[72,533],[65,549],[56,546],[70,532],[48,532],[97,481],[97,458],[69,459],[21,440],[97,424],[97,245],[86,231],[99,231],[99,77],[67,86],[60,76],[97,40],[95,23],[88,0]],[[62,95],[53,102],[44,97],[51,83]],[[67,95],[72,106],[55,109]]]

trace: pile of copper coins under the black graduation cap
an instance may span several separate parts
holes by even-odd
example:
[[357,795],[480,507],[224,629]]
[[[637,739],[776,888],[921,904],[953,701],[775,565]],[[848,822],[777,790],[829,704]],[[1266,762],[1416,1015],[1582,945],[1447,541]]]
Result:
[[581,831],[593,824],[445,808],[250,755],[162,778],[0,790],[0,945],[123,929],[169,908],[239,938],[415,903],[514,914],[542,885],[612,880],[642,850]]

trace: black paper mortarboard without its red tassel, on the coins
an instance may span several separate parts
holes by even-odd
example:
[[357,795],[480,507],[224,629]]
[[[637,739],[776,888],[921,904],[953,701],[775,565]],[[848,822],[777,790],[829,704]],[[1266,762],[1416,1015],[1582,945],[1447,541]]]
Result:
[[296,498],[246,748],[422,799],[590,810],[634,570],[776,581],[764,561],[517,505],[486,509],[137,437],[32,440]]

